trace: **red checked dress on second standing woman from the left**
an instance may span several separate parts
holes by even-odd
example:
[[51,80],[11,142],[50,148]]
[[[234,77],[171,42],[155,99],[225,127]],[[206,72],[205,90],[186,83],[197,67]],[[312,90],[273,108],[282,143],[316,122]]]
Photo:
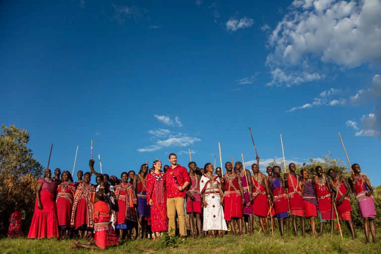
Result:
[[69,182],[64,182],[58,186],[56,207],[59,226],[70,227],[71,209],[75,190],[76,185]]

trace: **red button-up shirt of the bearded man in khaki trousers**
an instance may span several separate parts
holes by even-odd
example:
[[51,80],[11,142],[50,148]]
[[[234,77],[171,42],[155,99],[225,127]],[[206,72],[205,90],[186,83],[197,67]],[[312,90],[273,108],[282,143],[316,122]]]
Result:
[[176,168],[172,169],[171,165],[171,167],[169,167],[169,169],[165,172],[165,182],[167,198],[185,198],[187,191],[179,191],[178,187],[183,186],[186,182],[191,183],[191,178],[189,177],[187,169],[183,166],[177,165]]

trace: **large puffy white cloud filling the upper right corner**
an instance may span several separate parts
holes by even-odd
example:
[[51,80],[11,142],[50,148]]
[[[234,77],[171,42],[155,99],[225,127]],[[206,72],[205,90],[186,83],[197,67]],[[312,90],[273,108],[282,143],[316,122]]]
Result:
[[324,78],[322,65],[381,64],[380,13],[380,0],[295,0],[269,36],[270,84]]

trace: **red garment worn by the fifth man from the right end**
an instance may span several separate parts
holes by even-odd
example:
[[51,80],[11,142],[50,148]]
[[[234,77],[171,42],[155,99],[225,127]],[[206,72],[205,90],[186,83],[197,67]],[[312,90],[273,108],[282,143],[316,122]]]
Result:
[[303,196],[297,176],[288,174],[288,200],[291,214],[304,217]]

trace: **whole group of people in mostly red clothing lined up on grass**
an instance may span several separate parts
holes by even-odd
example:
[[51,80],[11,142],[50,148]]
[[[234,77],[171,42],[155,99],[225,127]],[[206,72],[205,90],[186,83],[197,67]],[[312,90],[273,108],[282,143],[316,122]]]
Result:
[[[204,232],[222,236],[228,227],[232,234],[243,236],[244,224],[246,232],[254,232],[256,215],[260,230],[265,234],[270,233],[269,224],[274,230],[276,218],[282,238],[284,225],[289,228],[289,218],[297,236],[298,217],[303,235],[305,219],[310,221],[312,234],[317,235],[316,217],[321,234],[324,223],[330,221],[333,230],[333,221],[338,217],[346,222],[355,239],[348,199],[352,191],[356,193],[364,219],[366,242],[369,242],[369,229],[373,241],[377,241],[373,189],[369,179],[361,175],[358,164],[352,165],[352,175],[347,181],[336,176],[333,169],[328,170],[327,176],[323,175],[319,166],[314,178],[309,178],[304,169],[298,175],[294,163],[283,177],[279,166],[267,167],[266,176],[259,171],[259,157],[256,160],[252,172],[239,161],[234,167],[232,162],[226,162],[226,173],[222,175],[221,168],[213,174],[211,163],[200,169],[195,162],[190,162],[188,172],[177,163],[176,154],[171,153],[170,166],[165,165],[164,172],[161,161],[155,160],[152,168],[143,164],[138,174],[123,172],[119,180],[96,172],[91,159],[90,172],[83,175],[79,171],[77,182],[73,182],[68,171],[61,174],[60,169],[56,169],[52,178],[50,169],[46,169],[44,178],[37,182],[28,238],[67,237],[75,230],[80,238],[87,236],[88,242],[75,241],[72,247],[94,249],[130,239],[133,228],[137,239],[148,234],[157,239],[163,232],[174,235],[177,228],[179,235],[185,238],[186,210],[192,236],[203,237]],[[90,183],[92,174],[96,175],[96,186]]]

